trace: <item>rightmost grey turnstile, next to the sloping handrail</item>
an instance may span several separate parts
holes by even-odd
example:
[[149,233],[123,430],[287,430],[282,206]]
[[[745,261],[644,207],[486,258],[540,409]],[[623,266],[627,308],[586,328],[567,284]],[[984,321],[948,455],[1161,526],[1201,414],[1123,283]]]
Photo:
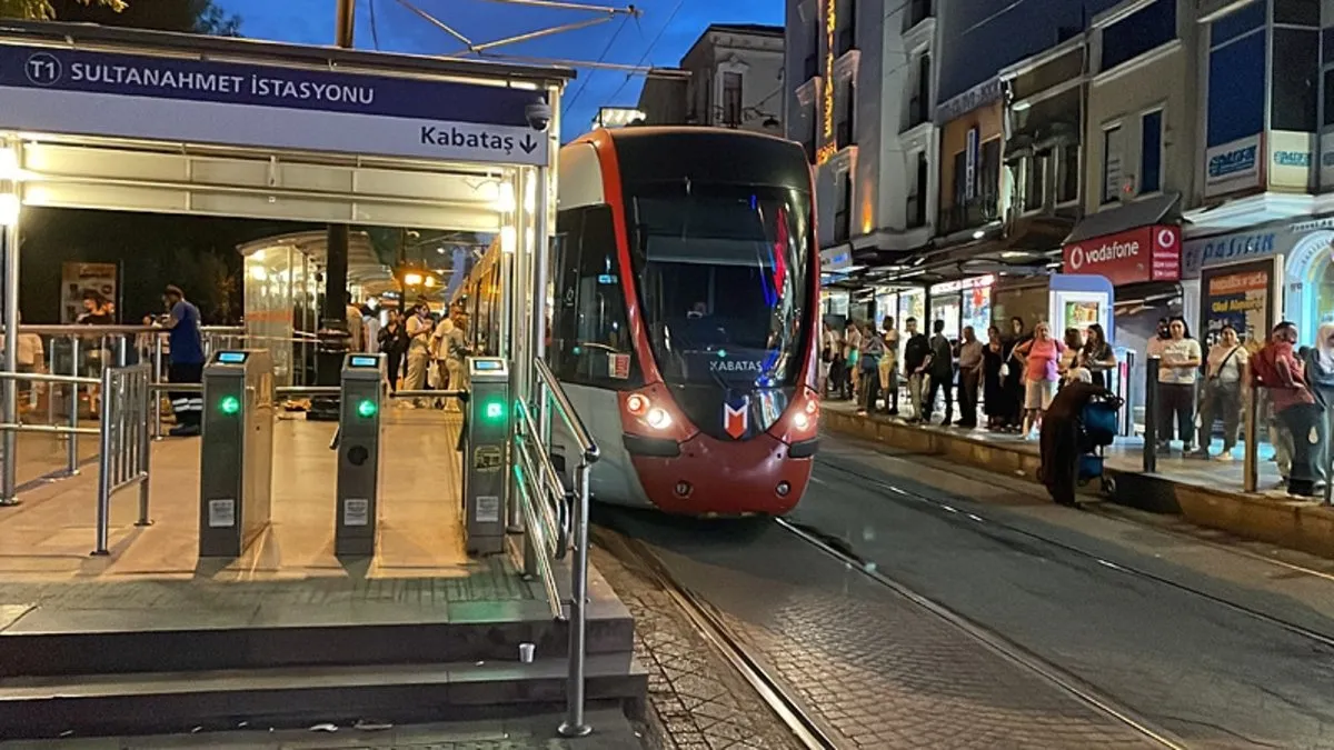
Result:
[[468,554],[504,551],[510,478],[510,367],[498,356],[468,358],[468,419],[464,424],[463,531]]

